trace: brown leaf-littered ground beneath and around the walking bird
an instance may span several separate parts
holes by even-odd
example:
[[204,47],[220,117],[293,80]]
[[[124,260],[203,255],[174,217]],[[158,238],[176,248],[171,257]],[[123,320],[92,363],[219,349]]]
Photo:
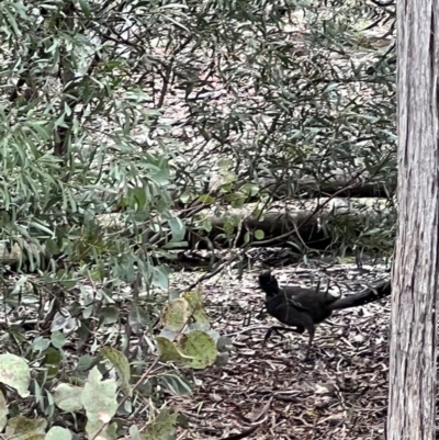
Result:
[[[345,267],[329,277],[358,291],[361,283],[373,285],[389,277],[382,270],[347,272]],[[288,278],[291,284],[309,282],[309,272],[294,271],[290,267],[274,273],[281,283]],[[223,278],[204,285],[209,314],[222,334],[234,334],[234,351],[227,365],[196,373],[202,385],[193,396],[172,398],[189,419],[178,438],[224,439],[255,429],[230,439],[383,439],[390,298],[336,312],[333,325],[317,328],[313,359],[304,362],[306,334],[272,336],[263,348],[274,320],[258,316],[258,273],[247,272],[241,282]]]

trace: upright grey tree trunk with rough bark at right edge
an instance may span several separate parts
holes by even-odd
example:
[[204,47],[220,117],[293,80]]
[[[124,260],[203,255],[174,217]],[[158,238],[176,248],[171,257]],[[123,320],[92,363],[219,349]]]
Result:
[[398,0],[398,235],[387,440],[436,438],[438,0]]

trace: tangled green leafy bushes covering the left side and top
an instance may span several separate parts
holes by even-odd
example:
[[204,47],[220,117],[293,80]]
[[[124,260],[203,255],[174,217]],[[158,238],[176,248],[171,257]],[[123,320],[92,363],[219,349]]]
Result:
[[[2,295],[5,313],[37,317],[1,324],[2,368],[26,371],[20,386],[0,374],[8,438],[117,438],[134,391],[149,406],[131,438],[170,436],[162,390],[190,393],[184,369],[223,364],[228,341],[198,291],[168,303],[154,338],[166,297],[151,287],[169,287],[175,249],[266,238],[236,216],[213,236],[207,208],[251,200],[263,215],[344,172],[391,187],[394,54],[361,31],[393,14],[338,0],[0,3]],[[331,236],[384,249],[392,226]],[[8,407],[11,390],[36,419]]]

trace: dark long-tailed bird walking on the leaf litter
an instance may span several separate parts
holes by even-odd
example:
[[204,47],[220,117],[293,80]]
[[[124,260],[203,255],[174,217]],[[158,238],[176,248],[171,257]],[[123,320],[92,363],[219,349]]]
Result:
[[290,330],[303,334],[305,329],[309,334],[306,349],[306,359],[314,339],[315,325],[329,318],[334,311],[358,307],[373,301],[389,296],[392,293],[391,282],[384,282],[376,287],[369,287],[362,292],[348,296],[334,296],[328,292],[317,289],[304,289],[286,285],[280,287],[278,280],[270,271],[259,275],[259,285],[266,292],[266,307],[269,315],[282,324],[295,327],[271,327],[264,337],[264,341],[272,331]]

